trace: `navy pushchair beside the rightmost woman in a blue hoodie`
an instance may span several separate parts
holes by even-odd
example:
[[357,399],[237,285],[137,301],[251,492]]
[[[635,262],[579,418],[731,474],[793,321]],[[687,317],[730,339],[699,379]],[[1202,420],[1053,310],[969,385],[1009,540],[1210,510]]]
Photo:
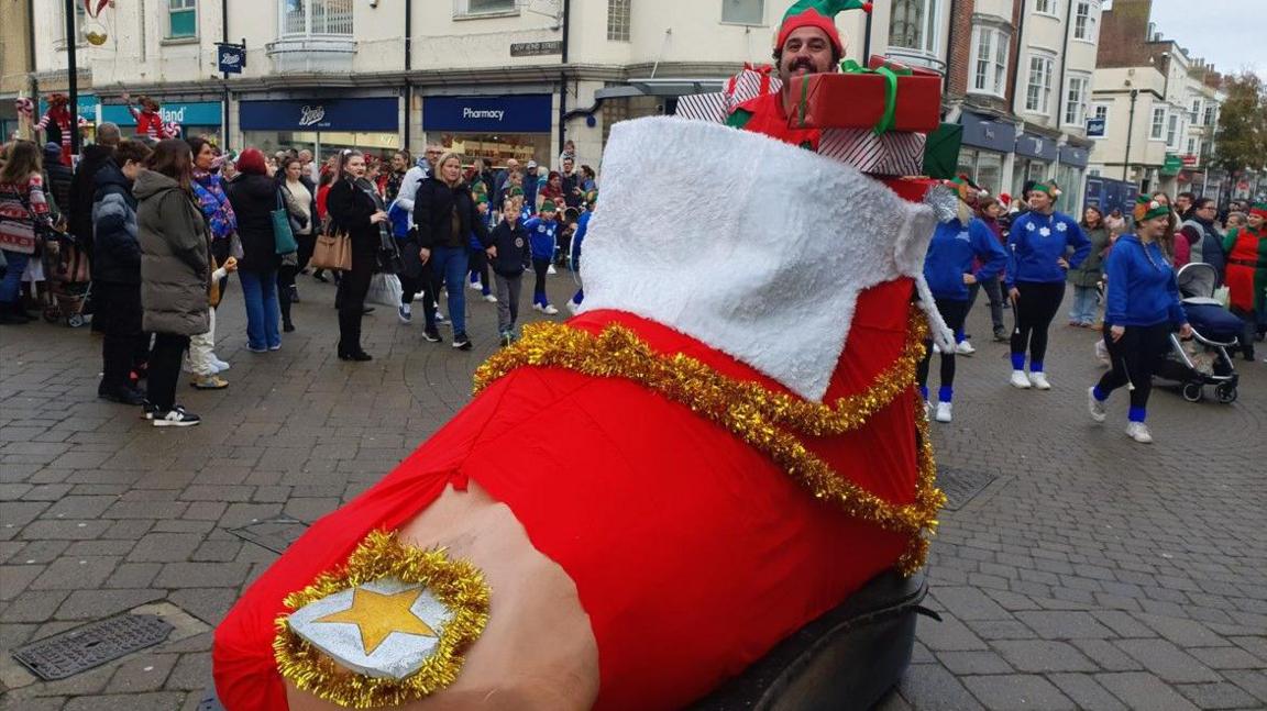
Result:
[[1200,402],[1207,385],[1214,386],[1219,402],[1235,402],[1240,376],[1228,356],[1228,348],[1237,345],[1242,323],[1214,297],[1219,273],[1210,264],[1194,262],[1180,268],[1176,278],[1192,326],[1192,340],[1181,342],[1172,333],[1169,352],[1156,374],[1182,383],[1181,393],[1188,402]]

